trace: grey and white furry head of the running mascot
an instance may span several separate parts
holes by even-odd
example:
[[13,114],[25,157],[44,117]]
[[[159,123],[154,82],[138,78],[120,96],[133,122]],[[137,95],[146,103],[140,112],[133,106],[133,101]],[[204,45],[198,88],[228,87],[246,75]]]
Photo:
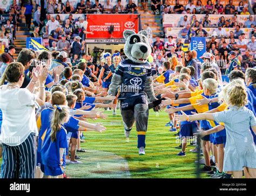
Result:
[[124,31],[125,46],[124,53],[127,58],[135,63],[146,63],[147,58],[151,54],[151,47],[149,43],[149,34],[147,31],[139,31],[138,33],[125,30]]

